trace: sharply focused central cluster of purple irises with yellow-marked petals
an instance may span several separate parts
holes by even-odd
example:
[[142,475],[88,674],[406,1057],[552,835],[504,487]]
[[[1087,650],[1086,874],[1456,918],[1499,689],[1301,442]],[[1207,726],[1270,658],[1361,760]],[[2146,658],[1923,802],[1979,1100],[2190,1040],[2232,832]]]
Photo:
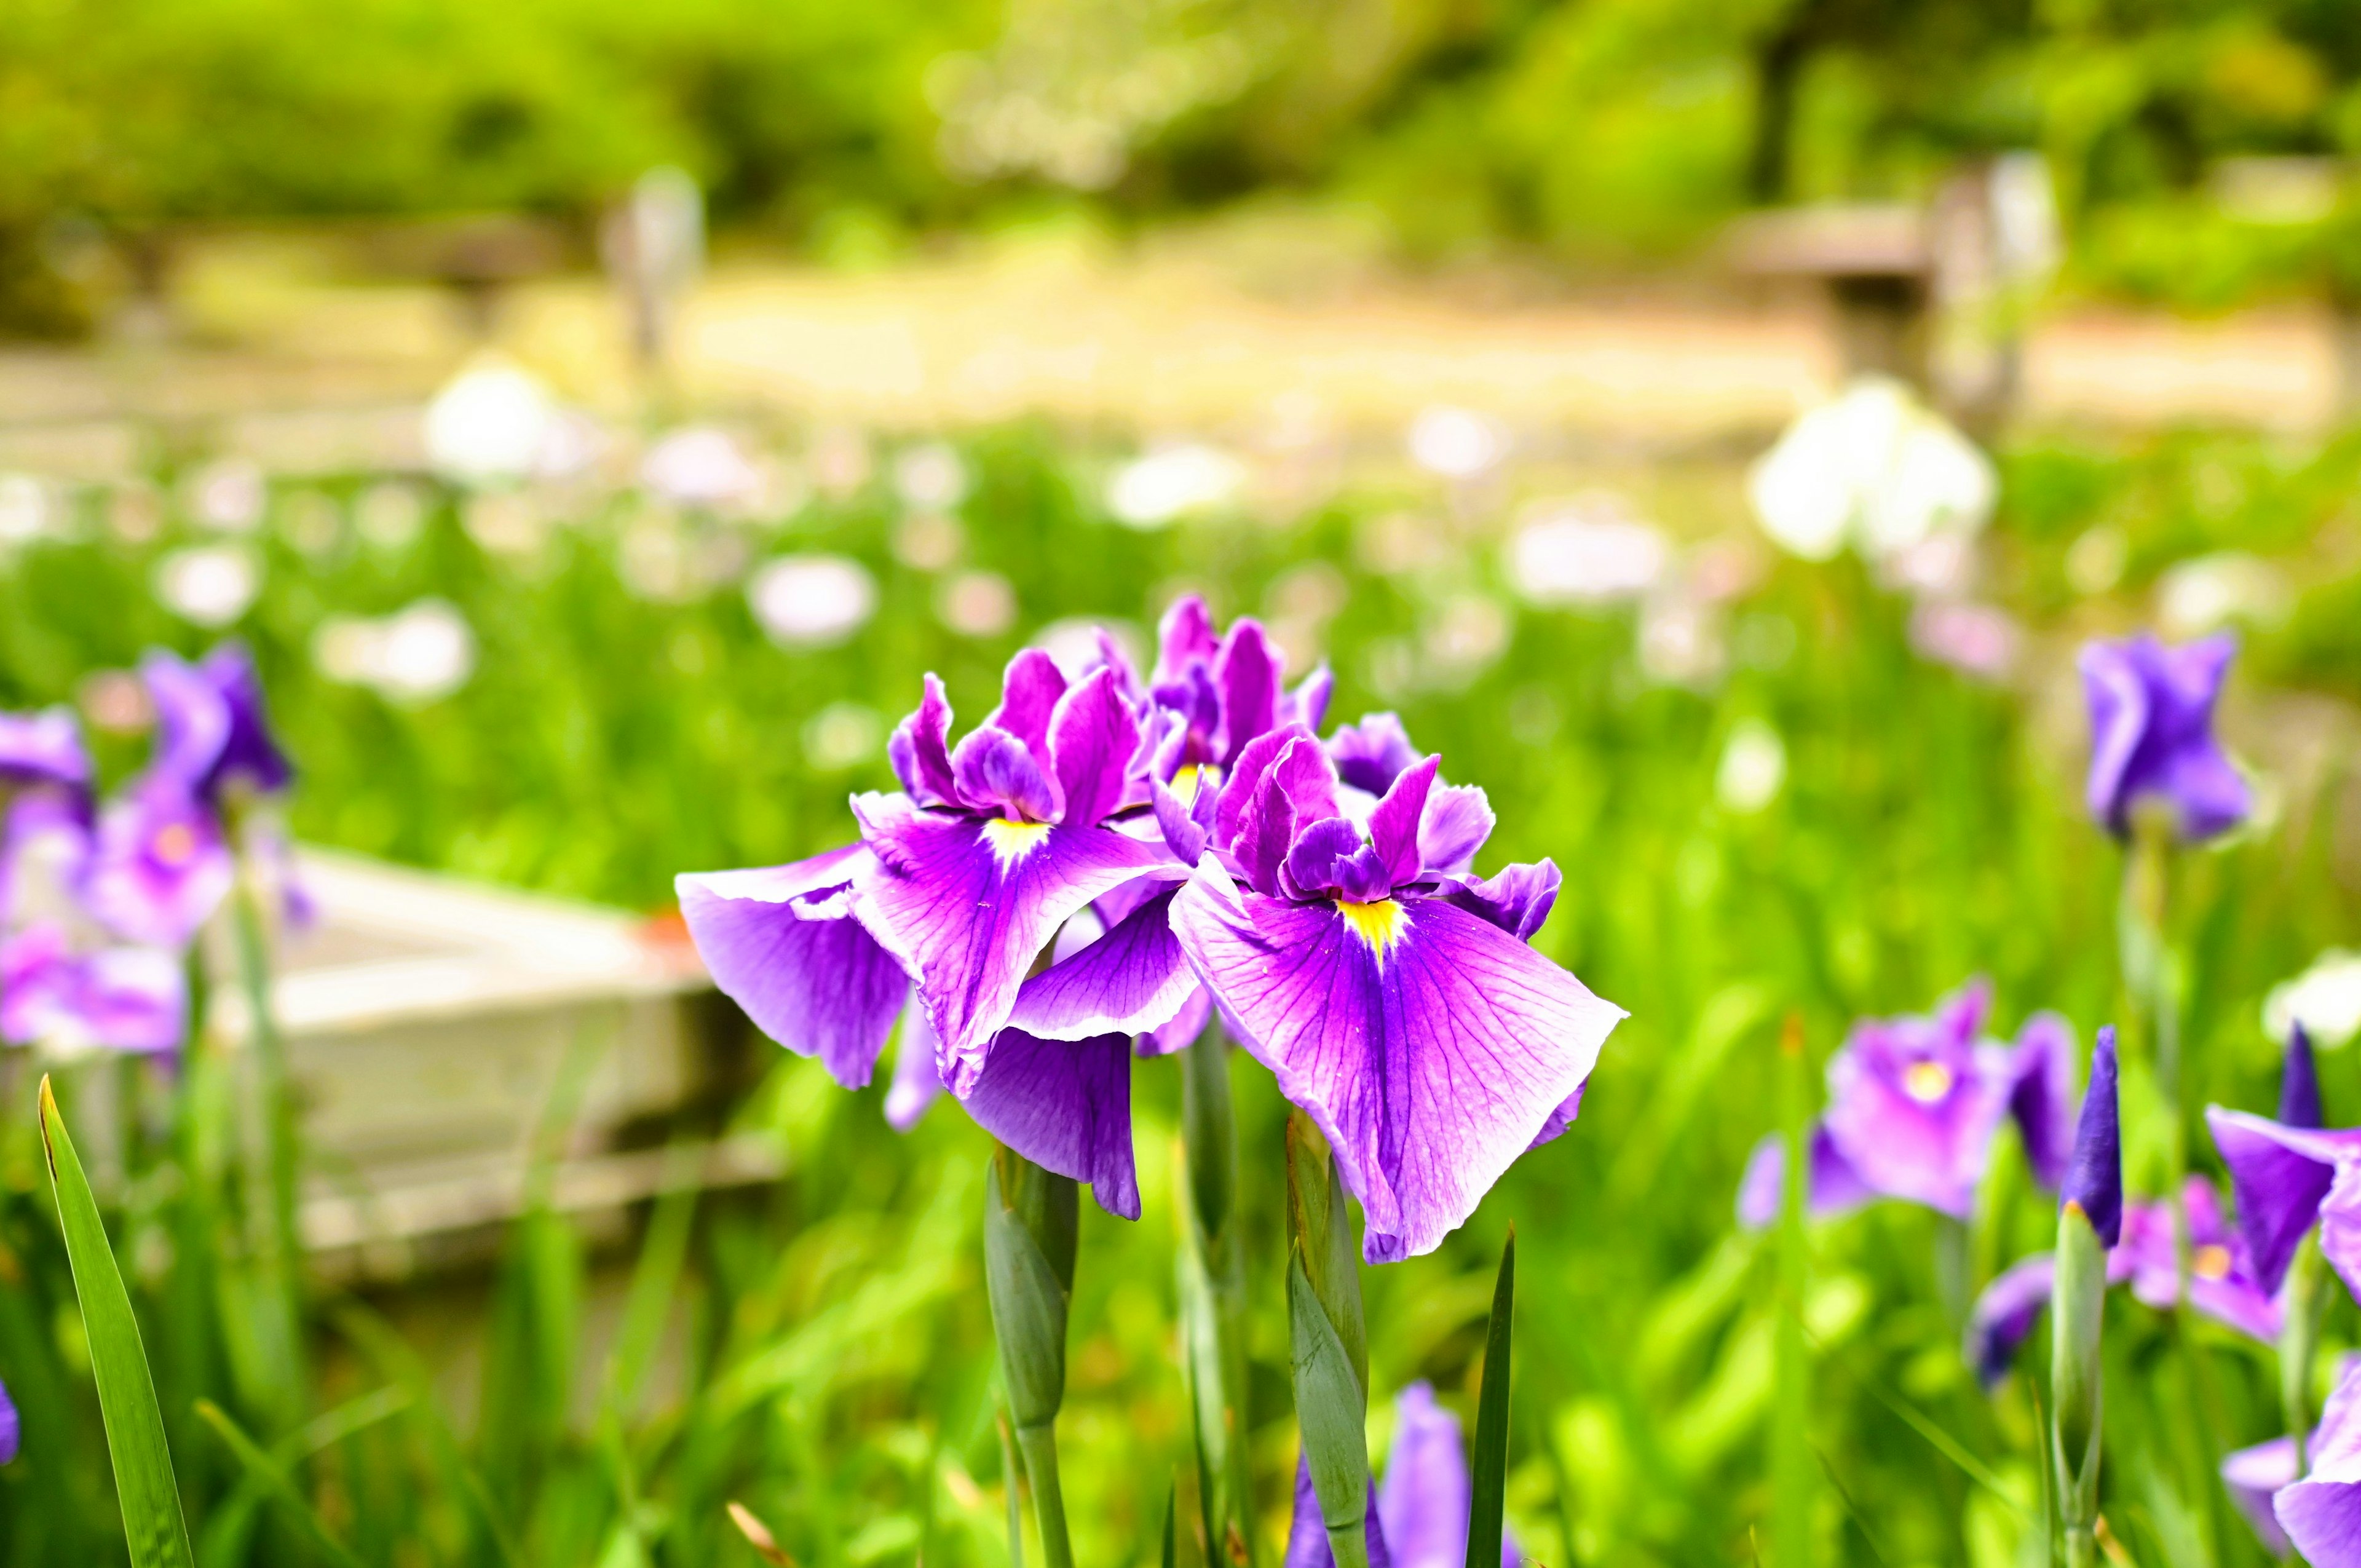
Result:
[[1124,1216],[1129,1063],[1218,1011],[1332,1143],[1365,1256],[1431,1252],[1565,1129],[1622,1011],[1528,947],[1558,869],[1478,878],[1483,791],[1393,716],[1322,741],[1327,697],[1195,597],[1147,675],[1107,638],[1072,678],[1018,654],[956,746],[930,675],[857,843],[682,876],[682,916],[772,1039],[862,1086],[900,1018],[900,1122],[933,1077]]

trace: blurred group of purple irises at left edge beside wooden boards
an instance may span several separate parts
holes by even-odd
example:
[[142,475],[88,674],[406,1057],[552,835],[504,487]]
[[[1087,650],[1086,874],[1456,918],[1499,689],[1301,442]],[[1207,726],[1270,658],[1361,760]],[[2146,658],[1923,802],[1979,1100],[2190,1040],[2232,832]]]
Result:
[[241,647],[142,664],[149,767],[97,803],[73,716],[0,716],[0,1039],[175,1051],[182,952],[236,881],[229,812],[290,779]]

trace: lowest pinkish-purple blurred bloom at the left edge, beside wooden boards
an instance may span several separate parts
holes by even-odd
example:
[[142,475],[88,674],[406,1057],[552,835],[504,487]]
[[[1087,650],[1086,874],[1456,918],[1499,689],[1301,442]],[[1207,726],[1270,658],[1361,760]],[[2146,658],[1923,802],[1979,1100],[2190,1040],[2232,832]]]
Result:
[[0,1039],[14,1046],[175,1051],[187,1011],[187,980],[170,952],[78,952],[50,921],[0,942]]

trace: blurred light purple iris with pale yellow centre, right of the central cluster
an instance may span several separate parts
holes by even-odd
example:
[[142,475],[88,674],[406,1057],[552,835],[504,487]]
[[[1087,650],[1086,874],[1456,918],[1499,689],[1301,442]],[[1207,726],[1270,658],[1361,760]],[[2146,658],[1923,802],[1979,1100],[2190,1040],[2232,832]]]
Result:
[[[2002,1122],[2016,1119],[2026,1162],[2056,1185],[2073,1148],[2073,1025],[2035,1013],[2016,1044],[1979,1039],[1993,992],[1969,980],[1929,1015],[1865,1018],[1827,1060],[1827,1112],[1811,1133],[1813,1216],[1903,1197],[1967,1216]],[[1778,1219],[1785,1143],[1754,1145],[1738,1219]]]

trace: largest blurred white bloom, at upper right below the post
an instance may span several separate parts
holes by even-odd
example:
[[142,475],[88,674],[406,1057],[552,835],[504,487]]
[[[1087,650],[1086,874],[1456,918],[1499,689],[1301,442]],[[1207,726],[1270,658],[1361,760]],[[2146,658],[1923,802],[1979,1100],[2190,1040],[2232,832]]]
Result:
[[1747,475],[1764,534],[1804,560],[1846,543],[1882,560],[1938,531],[1976,534],[1997,494],[1990,458],[1882,375],[1809,409]]

